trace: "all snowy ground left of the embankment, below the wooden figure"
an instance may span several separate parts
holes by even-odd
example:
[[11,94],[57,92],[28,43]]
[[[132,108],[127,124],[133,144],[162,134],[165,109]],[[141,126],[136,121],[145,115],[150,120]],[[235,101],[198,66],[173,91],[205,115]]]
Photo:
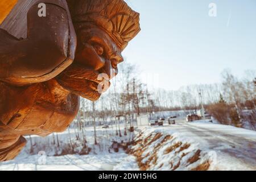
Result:
[[[109,129],[102,129],[102,126],[97,127],[97,142],[94,145],[93,127],[86,127],[84,135],[87,140],[86,146],[91,148],[88,155],[78,155],[82,151],[83,141],[80,132],[80,139],[76,140],[78,130],[70,129],[71,142],[76,154],[61,155],[65,152],[72,152],[69,140],[68,130],[58,134],[59,144],[57,146],[56,134],[55,144],[53,144],[53,135],[42,138],[36,135],[31,136],[33,151],[31,151],[30,138],[26,137],[27,145],[22,152],[14,159],[0,163],[0,170],[116,170],[119,163],[126,170],[138,170],[138,165],[135,157],[128,155],[123,150],[114,152],[110,147],[113,140],[121,142],[129,141],[132,133],[127,131],[127,135],[123,135],[124,130],[121,130],[122,137],[115,135],[115,126]],[[110,150],[110,152],[109,152]],[[61,156],[56,156],[61,155]]]

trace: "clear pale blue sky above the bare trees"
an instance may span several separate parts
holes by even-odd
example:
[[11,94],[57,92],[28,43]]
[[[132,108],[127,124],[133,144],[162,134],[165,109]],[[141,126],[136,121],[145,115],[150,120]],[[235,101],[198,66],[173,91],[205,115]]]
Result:
[[[179,89],[221,81],[225,68],[241,77],[256,69],[255,0],[126,0],[142,31],[123,51],[158,86]],[[217,16],[208,15],[216,3]]]

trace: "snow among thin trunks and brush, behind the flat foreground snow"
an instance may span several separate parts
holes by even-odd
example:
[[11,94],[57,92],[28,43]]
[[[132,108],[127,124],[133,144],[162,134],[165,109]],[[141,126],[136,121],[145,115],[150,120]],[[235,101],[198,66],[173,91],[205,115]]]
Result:
[[[38,154],[40,151],[45,151],[47,156],[53,156],[73,153],[83,154],[88,152],[88,148],[90,148],[90,154],[108,154],[109,149],[111,148],[110,146],[114,140],[117,142],[121,142],[121,140],[123,140],[123,142],[129,142],[133,137],[133,133],[129,133],[129,131],[127,131],[127,135],[124,135],[123,127],[121,129],[121,137],[119,137],[119,132],[118,135],[116,135],[115,126],[113,126],[113,128],[110,126],[108,129],[103,129],[102,126],[97,126],[96,130],[97,145],[94,145],[93,127],[85,127],[84,134],[82,134],[79,129],[70,129],[63,133],[51,134],[45,138],[32,135],[32,152],[30,138],[26,137],[27,145],[26,148],[24,148],[24,152],[27,154]],[[57,138],[59,139],[59,146],[57,145]],[[71,144],[73,146],[73,151]]]

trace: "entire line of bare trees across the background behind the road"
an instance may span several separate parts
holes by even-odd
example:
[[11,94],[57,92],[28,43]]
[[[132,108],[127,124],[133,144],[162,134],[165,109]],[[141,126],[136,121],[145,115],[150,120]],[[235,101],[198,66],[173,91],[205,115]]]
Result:
[[[122,64],[110,89],[95,102],[94,111],[92,102],[82,100],[81,117],[85,123],[91,125],[95,116],[98,124],[104,124],[113,120],[115,115],[123,115],[126,121],[132,123],[131,121],[142,113],[166,110],[195,111],[201,108],[201,104],[216,115],[213,106],[223,100],[230,110],[226,113],[233,114],[218,118],[220,122],[241,125],[243,111],[256,108],[255,71],[246,71],[245,77],[238,79],[230,71],[225,70],[221,74],[220,84],[188,85],[179,90],[148,89],[148,86],[138,79],[138,73],[135,65]],[[255,119],[250,121],[255,122]]]

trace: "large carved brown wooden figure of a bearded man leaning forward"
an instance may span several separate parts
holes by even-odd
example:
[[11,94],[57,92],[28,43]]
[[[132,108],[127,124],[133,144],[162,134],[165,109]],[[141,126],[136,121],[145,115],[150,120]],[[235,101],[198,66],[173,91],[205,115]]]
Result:
[[[38,16],[38,4],[46,16]],[[117,74],[121,52],[140,31],[122,0],[1,0],[0,161],[24,135],[67,129],[79,96],[96,101],[99,73]]]

